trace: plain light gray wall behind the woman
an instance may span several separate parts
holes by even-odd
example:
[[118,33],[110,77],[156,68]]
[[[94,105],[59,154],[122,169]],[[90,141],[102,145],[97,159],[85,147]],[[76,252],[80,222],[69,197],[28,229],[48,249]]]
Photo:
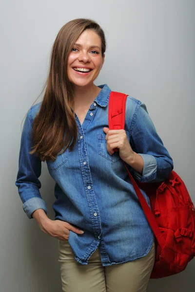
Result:
[[[57,240],[27,218],[15,186],[21,122],[42,89],[55,37],[73,18],[99,22],[108,49],[95,83],[146,103],[195,202],[195,1],[6,0],[0,6],[0,292],[61,291]],[[45,163],[40,181],[54,219],[54,181]],[[181,274],[150,280],[148,291],[194,291],[194,275],[195,259]]]

